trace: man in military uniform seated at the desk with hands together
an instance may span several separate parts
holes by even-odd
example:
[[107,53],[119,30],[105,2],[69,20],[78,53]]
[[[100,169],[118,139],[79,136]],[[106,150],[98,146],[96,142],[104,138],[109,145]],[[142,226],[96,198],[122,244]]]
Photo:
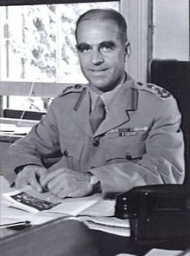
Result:
[[10,184],[65,198],[181,183],[180,112],[168,91],[124,71],[129,42],[123,16],[87,11],[77,22],[76,41],[89,84],[66,88],[9,148],[3,172]]

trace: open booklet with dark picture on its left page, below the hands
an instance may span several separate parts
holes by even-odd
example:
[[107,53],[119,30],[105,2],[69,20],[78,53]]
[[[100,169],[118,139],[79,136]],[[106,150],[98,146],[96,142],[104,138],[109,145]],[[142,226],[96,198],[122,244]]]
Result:
[[38,193],[30,186],[5,193],[3,197],[12,206],[29,213],[46,211],[48,213],[64,213],[68,216],[77,216],[79,213],[83,214],[85,209],[92,207],[99,200],[102,200],[99,195],[82,198],[66,198],[62,200],[50,192]]

